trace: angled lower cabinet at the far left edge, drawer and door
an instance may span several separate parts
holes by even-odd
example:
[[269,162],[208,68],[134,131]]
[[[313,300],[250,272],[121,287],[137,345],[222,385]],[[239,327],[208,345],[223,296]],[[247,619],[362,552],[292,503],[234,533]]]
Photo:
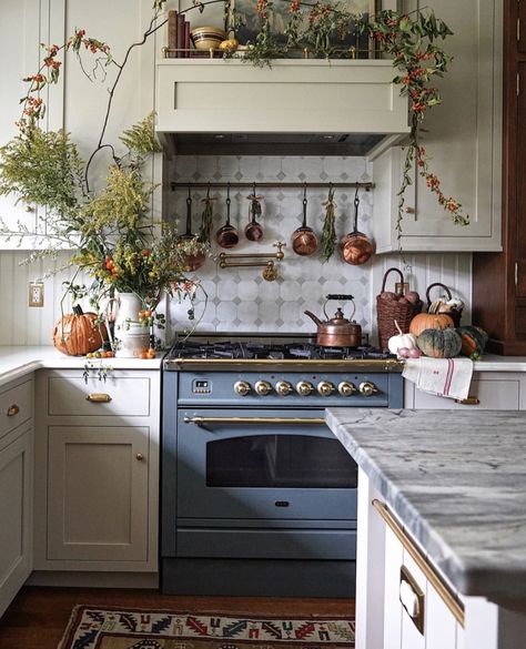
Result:
[[0,388],[0,616],[32,568],[32,386]]

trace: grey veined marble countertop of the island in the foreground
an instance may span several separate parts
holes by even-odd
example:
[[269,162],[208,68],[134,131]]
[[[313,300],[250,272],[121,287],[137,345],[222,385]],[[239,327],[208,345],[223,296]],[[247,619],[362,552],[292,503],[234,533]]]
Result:
[[330,408],[326,419],[459,592],[526,597],[526,412]]

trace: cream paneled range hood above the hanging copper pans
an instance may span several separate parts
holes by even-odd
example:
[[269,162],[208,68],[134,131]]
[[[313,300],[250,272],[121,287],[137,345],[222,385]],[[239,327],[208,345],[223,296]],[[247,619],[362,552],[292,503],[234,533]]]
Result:
[[169,154],[375,158],[409,132],[388,60],[163,59],[156,71]]

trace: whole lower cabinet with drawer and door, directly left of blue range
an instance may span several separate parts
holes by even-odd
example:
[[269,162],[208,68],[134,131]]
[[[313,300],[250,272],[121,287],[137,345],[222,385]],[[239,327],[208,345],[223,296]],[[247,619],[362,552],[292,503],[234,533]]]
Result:
[[[156,571],[159,378],[38,376],[36,569]],[[139,407],[123,414],[131,394]]]

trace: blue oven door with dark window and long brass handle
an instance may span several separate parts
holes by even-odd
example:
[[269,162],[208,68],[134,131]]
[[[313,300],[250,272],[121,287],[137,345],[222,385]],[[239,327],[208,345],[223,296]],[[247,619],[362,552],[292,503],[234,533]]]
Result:
[[176,439],[179,519],[356,519],[357,467],[323,410],[181,408]]

